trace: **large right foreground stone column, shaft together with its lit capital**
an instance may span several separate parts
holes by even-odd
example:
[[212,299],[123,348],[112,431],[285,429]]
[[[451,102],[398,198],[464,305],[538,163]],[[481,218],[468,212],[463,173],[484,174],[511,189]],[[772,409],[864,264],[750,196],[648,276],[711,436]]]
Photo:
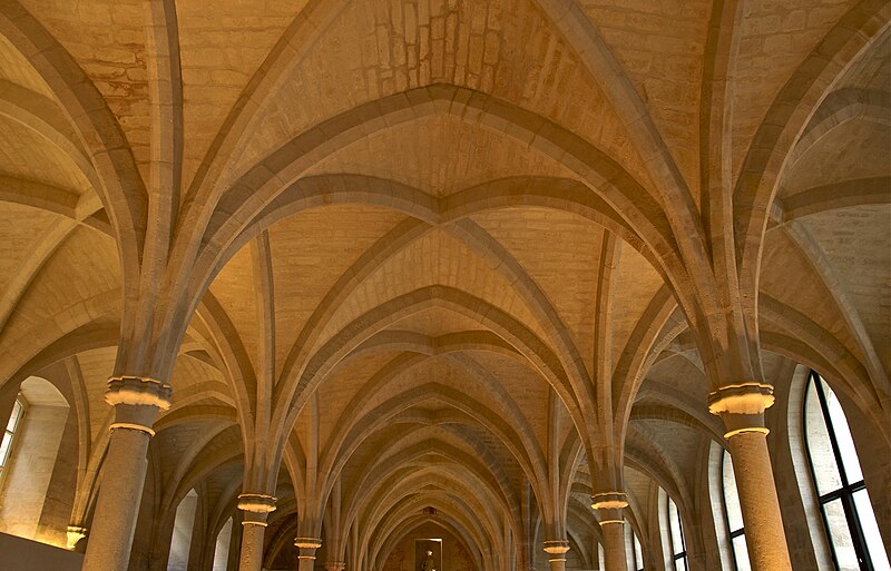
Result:
[[764,426],[764,410],[773,402],[773,386],[741,383],[711,393],[708,411],[727,427],[752,569],[792,571]]

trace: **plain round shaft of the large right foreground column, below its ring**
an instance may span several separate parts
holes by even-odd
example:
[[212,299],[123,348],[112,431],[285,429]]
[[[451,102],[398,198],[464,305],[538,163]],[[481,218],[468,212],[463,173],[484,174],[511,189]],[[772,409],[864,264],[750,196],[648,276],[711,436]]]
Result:
[[730,436],[728,442],[752,569],[791,571],[767,435],[745,431]]

